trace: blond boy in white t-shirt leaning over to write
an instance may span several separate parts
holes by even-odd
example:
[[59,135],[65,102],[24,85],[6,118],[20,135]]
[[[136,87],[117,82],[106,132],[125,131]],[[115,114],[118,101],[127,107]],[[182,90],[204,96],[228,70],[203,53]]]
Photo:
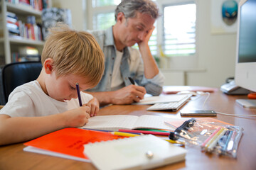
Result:
[[38,79],[14,89],[0,110],[0,145],[80,127],[99,110],[97,99],[82,92],[82,103],[87,104],[80,107],[75,89],[76,83],[80,91],[90,89],[102,77],[104,55],[95,38],[60,23],[50,32]]

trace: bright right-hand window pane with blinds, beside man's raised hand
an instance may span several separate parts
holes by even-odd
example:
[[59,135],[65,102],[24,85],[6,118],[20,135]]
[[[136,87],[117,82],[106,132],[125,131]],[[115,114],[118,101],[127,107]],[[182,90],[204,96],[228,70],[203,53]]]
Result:
[[164,6],[164,55],[196,53],[196,4]]

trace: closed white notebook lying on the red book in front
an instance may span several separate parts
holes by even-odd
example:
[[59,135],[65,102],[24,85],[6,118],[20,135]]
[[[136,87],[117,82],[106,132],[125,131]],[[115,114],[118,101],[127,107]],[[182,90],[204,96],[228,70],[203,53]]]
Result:
[[186,149],[154,135],[84,145],[84,153],[97,169],[153,169],[181,162]]

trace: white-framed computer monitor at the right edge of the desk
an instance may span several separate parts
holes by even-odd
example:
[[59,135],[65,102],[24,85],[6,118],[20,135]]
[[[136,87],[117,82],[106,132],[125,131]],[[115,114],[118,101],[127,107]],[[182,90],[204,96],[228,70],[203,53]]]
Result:
[[[256,92],[256,0],[238,5],[235,84]],[[245,101],[255,104],[256,100]]]

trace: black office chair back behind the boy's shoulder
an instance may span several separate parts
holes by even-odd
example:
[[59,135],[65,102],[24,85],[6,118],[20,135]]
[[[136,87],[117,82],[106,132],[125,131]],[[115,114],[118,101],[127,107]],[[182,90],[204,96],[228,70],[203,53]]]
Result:
[[5,105],[9,94],[17,86],[36,80],[41,72],[41,62],[14,62],[0,69],[0,104]]

